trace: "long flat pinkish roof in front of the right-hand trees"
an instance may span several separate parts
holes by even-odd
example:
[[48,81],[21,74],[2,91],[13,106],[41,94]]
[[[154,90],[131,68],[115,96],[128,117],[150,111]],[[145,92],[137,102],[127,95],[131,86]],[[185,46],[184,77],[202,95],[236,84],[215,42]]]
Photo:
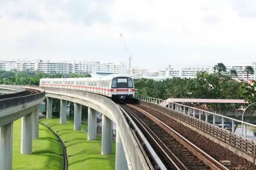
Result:
[[169,98],[166,102],[191,102],[191,103],[248,103],[243,99],[187,99]]

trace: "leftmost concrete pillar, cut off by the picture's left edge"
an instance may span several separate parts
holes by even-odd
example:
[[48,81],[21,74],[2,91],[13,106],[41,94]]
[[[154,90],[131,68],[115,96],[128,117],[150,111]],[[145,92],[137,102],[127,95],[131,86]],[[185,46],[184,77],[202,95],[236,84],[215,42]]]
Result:
[[0,170],[12,170],[13,123],[0,127]]

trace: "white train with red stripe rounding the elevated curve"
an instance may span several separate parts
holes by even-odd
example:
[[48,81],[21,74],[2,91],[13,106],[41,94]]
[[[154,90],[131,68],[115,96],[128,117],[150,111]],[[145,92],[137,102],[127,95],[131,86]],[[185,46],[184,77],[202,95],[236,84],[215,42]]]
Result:
[[135,96],[136,91],[133,78],[121,74],[83,78],[42,78],[39,86],[96,93],[114,102],[129,102]]

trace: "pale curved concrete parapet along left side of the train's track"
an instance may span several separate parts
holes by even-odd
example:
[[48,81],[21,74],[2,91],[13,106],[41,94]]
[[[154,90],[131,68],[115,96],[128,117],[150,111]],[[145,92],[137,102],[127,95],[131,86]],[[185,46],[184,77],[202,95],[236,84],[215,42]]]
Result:
[[120,136],[124,143],[124,150],[126,153],[129,170],[149,170],[146,160],[143,154],[140,152],[140,147],[137,144],[135,137],[133,136],[133,133],[131,128],[129,127],[129,124],[126,121],[125,116],[122,114],[122,111],[119,109],[118,105],[115,102],[101,95],[89,93],[89,92],[59,89],[59,88],[47,88],[47,87],[42,88],[42,87],[32,86],[32,85],[27,85],[27,87],[44,89],[47,91],[46,93],[52,93],[57,95],[60,95],[60,93],[63,93],[63,95],[66,94],[66,96],[73,96],[73,98],[78,98],[78,99],[81,96],[80,98],[81,100],[84,100],[82,99],[82,97],[85,97],[85,98],[91,99],[91,101],[101,102],[103,105],[105,105],[105,107],[107,107],[113,112],[117,120],[117,126],[119,126],[119,129],[120,129]]

